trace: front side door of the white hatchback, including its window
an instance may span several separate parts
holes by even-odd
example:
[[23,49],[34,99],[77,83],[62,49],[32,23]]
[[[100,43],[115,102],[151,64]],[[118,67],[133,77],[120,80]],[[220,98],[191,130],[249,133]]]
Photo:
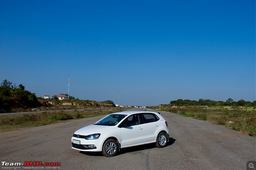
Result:
[[128,116],[118,127],[121,128],[121,146],[143,143],[143,126],[138,114]]

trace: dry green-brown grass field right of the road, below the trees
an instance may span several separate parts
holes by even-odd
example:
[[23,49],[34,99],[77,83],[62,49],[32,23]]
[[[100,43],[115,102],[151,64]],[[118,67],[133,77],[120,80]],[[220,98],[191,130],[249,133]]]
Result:
[[162,111],[226,126],[256,137],[256,110],[244,107],[163,107]]

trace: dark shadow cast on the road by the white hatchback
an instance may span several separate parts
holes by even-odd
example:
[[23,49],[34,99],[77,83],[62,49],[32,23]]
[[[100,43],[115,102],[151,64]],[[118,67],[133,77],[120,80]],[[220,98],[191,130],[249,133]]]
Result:
[[[174,144],[176,140],[173,139],[172,137],[169,137],[169,142],[167,143],[167,145],[165,147],[168,147],[172,144]],[[120,150],[120,152],[117,152],[117,155],[121,155],[124,153],[130,153],[130,152],[138,152],[138,151],[143,151],[143,150],[148,150],[148,149],[153,149],[156,148],[156,143],[152,143],[152,144],[143,144],[143,145],[139,145],[139,146],[132,146],[132,147],[128,147],[128,148],[122,148]],[[102,152],[85,152],[85,151],[80,151],[79,153],[82,153],[84,155],[88,155],[88,156],[103,156]]]

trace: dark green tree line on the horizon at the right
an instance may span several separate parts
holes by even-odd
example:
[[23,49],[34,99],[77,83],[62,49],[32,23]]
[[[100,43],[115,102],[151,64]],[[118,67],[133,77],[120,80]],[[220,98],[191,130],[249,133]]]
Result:
[[196,100],[172,100],[170,101],[170,105],[173,106],[231,106],[231,107],[256,107],[256,100],[253,102],[251,101],[244,101],[244,99],[234,101],[233,99],[229,98],[228,100],[224,101],[214,101],[210,99],[199,99]]

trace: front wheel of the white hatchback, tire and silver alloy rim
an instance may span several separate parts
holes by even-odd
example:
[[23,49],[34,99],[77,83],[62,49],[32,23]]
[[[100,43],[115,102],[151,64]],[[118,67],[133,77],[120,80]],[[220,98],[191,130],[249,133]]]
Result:
[[108,139],[102,147],[102,154],[106,157],[115,156],[118,151],[118,144],[113,139]]

